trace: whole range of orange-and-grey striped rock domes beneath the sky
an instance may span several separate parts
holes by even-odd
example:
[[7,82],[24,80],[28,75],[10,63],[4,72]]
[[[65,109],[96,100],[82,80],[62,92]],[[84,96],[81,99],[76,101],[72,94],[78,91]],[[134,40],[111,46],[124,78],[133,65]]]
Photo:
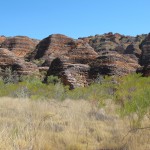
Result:
[[[71,88],[86,86],[98,75],[150,75],[150,34],[136,37],[107,33],[77,40],[53,34],[39,41],[0,36],[0,67],[19,74],[46,71]],[[46,79],[46,77],[45,77]]]

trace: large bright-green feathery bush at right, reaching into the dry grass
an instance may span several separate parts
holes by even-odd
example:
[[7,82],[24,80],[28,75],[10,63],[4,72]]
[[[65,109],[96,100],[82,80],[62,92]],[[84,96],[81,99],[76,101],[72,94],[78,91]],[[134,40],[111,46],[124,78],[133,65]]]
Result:
[[121,105],[121,115],[131,116],[134,125],[139,125],[144,115],[150,112],[150,78],[131,74],[118,81],[115,100]]

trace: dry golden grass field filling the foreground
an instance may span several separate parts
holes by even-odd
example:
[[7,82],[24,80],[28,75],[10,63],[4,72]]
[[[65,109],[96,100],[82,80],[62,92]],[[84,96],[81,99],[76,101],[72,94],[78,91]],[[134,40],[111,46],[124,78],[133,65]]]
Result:
[[[0,98],[1,150],[150,150],[150,131],[129,133],[108,100],[64,102]],[[146,122],[147,119],[145,119]],[[149,122],[148,122],[149,123]]]

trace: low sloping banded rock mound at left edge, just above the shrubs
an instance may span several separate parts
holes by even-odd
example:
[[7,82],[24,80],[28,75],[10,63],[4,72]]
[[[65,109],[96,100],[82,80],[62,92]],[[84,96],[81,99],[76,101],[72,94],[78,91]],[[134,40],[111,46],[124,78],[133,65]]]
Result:
[[25,62],[18,58],[13,52],[8,49],[0,48],[0,68],[5,70],[11,68],[18,75],[38,75],[39,71],[36,65],[31,62]]

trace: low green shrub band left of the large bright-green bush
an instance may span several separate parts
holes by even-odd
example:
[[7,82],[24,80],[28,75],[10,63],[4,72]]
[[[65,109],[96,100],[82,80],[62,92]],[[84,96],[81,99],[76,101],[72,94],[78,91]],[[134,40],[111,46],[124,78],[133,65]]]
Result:
[[49,76],[47,84],[35,76],[26,76],[20,78],[21,82],[0,82],[0,96],[22,97],[31,99],[86,99],[98,101],[104,104],[105,98],[112,97],[112,78],[106,77],[103,82],[93,83],[88,87],[79,87],[69,90],[64,86],[56,76]]

